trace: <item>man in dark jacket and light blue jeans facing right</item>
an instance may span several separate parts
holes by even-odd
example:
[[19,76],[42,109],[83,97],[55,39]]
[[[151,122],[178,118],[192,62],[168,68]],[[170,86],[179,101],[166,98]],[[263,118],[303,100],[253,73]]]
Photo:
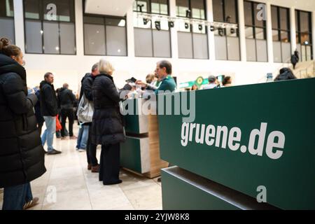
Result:
[[55,88],[52,85],[54,82],[54,75],[51,72],[45,73],[44,79],[41,82],[41,113],[45,120],[46,130],[41,136],[41,142],[45,146],[47,140],[48,155],[55,155],[61,153],[52,147],[54,134],[56,132],[56,116],[57,116],[57,97]]

